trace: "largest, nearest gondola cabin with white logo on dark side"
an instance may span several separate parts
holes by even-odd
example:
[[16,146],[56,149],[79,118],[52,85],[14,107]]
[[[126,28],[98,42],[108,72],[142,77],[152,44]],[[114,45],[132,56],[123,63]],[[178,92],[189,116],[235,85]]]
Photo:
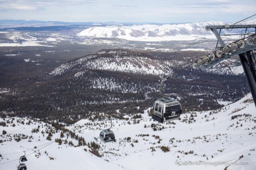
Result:
[[179,119],[182,109],[174,98],[162,97],[156,100],[153,107],[152,119],[161,123]]

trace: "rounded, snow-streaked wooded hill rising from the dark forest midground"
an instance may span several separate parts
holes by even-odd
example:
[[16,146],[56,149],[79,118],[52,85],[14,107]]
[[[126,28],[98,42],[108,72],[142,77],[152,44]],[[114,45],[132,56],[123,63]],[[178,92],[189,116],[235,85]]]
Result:
[[50,75],[61,75],[68,71],[82,74],[84,69],[110,70],[135,74],[170,74],[172,69],[149,55],[129,50],[101,50],[96,54],[81,57],[55,68]]

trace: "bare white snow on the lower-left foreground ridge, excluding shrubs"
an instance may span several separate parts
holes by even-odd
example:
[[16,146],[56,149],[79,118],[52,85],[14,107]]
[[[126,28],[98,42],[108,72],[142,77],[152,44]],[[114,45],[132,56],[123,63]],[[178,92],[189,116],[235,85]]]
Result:
[[[2,121],[2,119],[0,119]],[[27,120],[25,120],[26,122]],[[15,121],[16,123],[16,121]],[[16,123],[17,124],[17,123]],[[26,150],[28,148],[31,148],[32,145],[39,146],[47,143],[46,140],[42,140],[42,134],[41,133],[32,133],[31,129],[36,128],[38,125],[42,126],[45,125],[45,123],[37,122],[36,125],[22,125],[19,124],[16,127],[4,127],[4,129],[7,131],[7,133],[24,133],[24,134],[30,134],[34,136],[34,142],[28,142],[27,140],[21,140],[20,142],[4,142],[3,145],[1,145],[1,154],[4,156],[7,152],[19,152],[20,150]],[[27,128],[29,127],[29,128]],[[40,127],[41,128],[41,127]],[[0,128],[2,132],[2,127]],[[42,130],[42,129],[40,129]],[[40,140],[41,136],[41,140]],[[60,133],[53,134],[55,137],[59,137]],[[49,142],[49,141],[48,141]],[[22,147],[18,145],[22,145]],[[10,145],[13,145],[13,147],[10,147]],[[87,148],[88,149],[88,148]],[[47,154],[45,154],[45,151]],[[35,154],[32,154],[32,156],[28,156],[27,162],[24,162],[28,169],[37,169],[37,170],[50,170],[50,169],[82,169],[84,167],[88,169],[95,169],[95,170],[104,170],[104,169],[110,169],[114,168],[117,170],[122,169],[120,166],[106,162],[103,159],[99,159],[98,157],[92,155],[90,152],[85,152],[83,147],[64,147],[59,146],[57,143],[53,143],[52,145],[49,145],[48,147],[42,149],[39,151],[40,155],[37,158],[34,156]],[[33,153],[32,150],[27,151],[26,155]],[[17,156],[24,155],[22,154],[13,154],[8,155],[9,159],[16,159]],[[7,156],[7,155],[6,155]],[[6,157],[4,156],[4,157]],[[50,160],[49,158],[53,157],[54,160]],[[2,159],[0,163],[6,161],[5,159]],[[64,163],[65,162],[65,163]],[[16,164],[18,164],[18,161],[9,163],[9,164],[0,164],[1,170],[11,170],[16,168]]]

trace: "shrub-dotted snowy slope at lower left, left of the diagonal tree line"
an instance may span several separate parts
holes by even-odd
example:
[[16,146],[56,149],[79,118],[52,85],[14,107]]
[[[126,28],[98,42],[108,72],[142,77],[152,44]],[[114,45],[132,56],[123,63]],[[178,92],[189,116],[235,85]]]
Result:
[[[6,122],[8,119],[5,119]],[[11,119],[9,119],[11,121]],[[17,123],[17,120],[20,122]],[[0,122],[4,121],[3,119],[0,119]],[[22,125],[21,121],[24,121],[24,125]],[[30,122],[30,125],[27,125],[27,123]],[[15,124],[15,127],[12,127],[12,124]],[[8,125],[8,123],[7,123]],[[38,133],[32,133],[33,129],[36,129],[38,126],[40,126],[40,131]],[[43,137],[41,131],[47,131],[51,128],[51,125],[47,125],[46,123],[42,123],[40,121],[33,121],[30,119],[19,119],[15,118],[13,122],[10,122],[8,127],[2,127],[0,126],[0,131],[2,133],[3,129],[7,131],[6,135],[1,135],[0,140],[4,141],[0,147],[0,154],[2,155],[2,159],[0,160],[0,163],[6,162],[8,160],[17,159],[17,157],[24,155],[24,153],[18,153],[18,154],[10,154],[10,155],[4,155],[6,153],[15,153],[20,152],[20,150],[28,150],[30,148],[33,148],[35,146],[44,145],[46,143],[49,143],[51,141],[46,140],[46,137]],[[24,138],[26,138],[25,135],[28,135],[27,139],[21,139],[19,142],[14,141],[15,137],[14,134],[24,134]],[[10,136],[11,135],[11,136]],[[45,133],[47,136],[47,134]],[[22,135],[21,135],[22,136]],[[30,137],[31,136],[31,137]],[[60,138],[60,131],[58,133],[53,134],[52,139]],[[5,141],[6,140],[6,141]],[[11,141],[10,141],[11,140]],[[70,139],[68,140],[70,141]],[[76,140],[72,140],[74,144],[77,144]],[[38,147],[38,148],[42,148]],[[38,149],[37,148],[37,149]],[[92,155],[90,152],[85,152],[84,148],[88,150],[88,147],[68,147],[68,145],[60,146],[57,143],[52,143],[51,145],[45,147],[42,150],[39,150],[37,153],[33,153],[33,150],[28,150],[26,152],[26,155],[33,153],[32,155],[28,156],[28,162],[26,165],[28,166],[28,169],[34,169],[34,170],[51,170],[51,169],[84,169],[84,167],[88,169],[95,169],[95,170],[104,170],[104,169],[122,169],[118,165],[115,165],[113,163],[106,162],[102,159],[98,159],[98,157]],[[36,150],[36,149],[34,149]],[[1,157],[0,157],[1,158]],[[53,160],[50,160],[50,158],[53,158]],[[7,163],[7,164],[0,164],[1,170],[13,170],[16,169],[16,164],[18,164],[18,161]]]

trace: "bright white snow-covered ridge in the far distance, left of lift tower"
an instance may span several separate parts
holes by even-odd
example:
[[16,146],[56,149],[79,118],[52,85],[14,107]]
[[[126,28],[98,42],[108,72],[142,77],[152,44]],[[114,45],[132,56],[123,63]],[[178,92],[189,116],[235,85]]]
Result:
[[182,24],[144,24],[144,25],[112,25],[90,27],[78,36],[87,37],[107,37],[120,38],[130,41],[175,41],[175,40],[194,40],[197,38],[213,39],[215,36],[205,30],[206,25],[223,25],[218,21],[182,23]]

